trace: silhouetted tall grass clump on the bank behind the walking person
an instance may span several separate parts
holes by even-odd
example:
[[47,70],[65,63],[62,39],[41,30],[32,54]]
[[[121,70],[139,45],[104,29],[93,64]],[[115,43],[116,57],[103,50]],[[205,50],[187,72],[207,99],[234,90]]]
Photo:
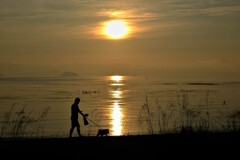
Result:
[[49,109],[49,107],[46,107],[40,115],[34,116],[33,112],[27,112],[25,107],[16,109],[16,104],[13,104],[10,110],[4,113],[1,121],[0,137],[23,138],[43,136]]

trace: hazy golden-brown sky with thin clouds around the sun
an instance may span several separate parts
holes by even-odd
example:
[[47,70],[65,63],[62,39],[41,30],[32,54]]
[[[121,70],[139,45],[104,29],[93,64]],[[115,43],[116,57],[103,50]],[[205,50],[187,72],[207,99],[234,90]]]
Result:
[[[111,39],[106,23],[128,33]],[[0,74],[240,80],[239,0],[0,0]]]

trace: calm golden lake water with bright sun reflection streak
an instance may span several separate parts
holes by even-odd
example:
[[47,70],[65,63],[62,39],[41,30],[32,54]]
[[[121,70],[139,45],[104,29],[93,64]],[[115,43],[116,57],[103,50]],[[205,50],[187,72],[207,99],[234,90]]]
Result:
[[[226,126],[226,114],[240,110],[239,81],[141,76],[2,77],[0,88],[1,129],[4,115],[12,107],[13,118],[22,108],[25,117],[39,117],[49,108],[38,128],[40,136],[68,136],[70,107],[76,97],[81,98],[80,109],[89,114],[87,126],[79,116],[85,136],[95,136],[99,128],[110,129],[110,135],[178,132],[189,125],[221,130]],[[29,123],[29,130],[36,125]]]

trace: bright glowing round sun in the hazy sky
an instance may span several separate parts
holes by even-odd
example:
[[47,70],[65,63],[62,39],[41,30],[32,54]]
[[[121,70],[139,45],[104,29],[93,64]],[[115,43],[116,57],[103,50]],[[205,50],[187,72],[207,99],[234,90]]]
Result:
[[105,23],[104,34],[110,39],[121,39],[127,36],[129,27],[122,20],[112,20]]

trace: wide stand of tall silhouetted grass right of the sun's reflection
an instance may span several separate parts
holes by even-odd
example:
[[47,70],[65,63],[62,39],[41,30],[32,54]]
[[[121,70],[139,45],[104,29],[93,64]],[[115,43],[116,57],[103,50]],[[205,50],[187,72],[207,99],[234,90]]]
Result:
[[[227,108],[216,121],[210,117],[209,91],[204,94],[203,103],[193,105],[189,91],[180,90],[165,106],[157,98],[152,105],[146,95],[138,116],[140,127],[146,129],[147,134],[240,131],[240,111]],[[223,105],[226,105],[225,101]]]

